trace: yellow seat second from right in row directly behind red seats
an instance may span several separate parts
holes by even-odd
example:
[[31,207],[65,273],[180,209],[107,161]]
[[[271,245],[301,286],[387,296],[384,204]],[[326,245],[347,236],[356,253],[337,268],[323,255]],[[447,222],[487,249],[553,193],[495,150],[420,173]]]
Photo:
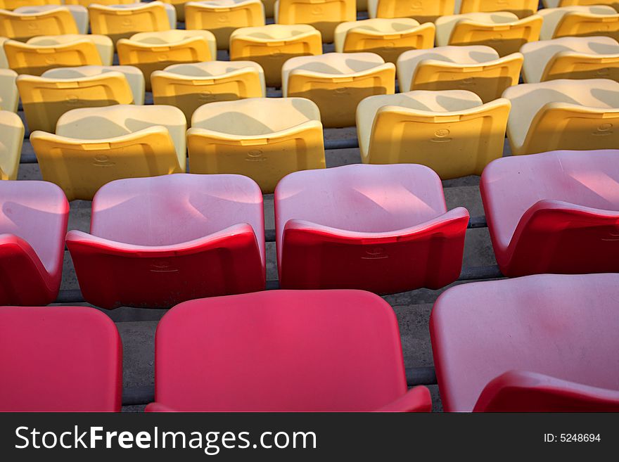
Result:
[[480,175],[503,155],[509,108],[465,90],[370,96],[357,108],[362,162],[426,165],[441,179]]

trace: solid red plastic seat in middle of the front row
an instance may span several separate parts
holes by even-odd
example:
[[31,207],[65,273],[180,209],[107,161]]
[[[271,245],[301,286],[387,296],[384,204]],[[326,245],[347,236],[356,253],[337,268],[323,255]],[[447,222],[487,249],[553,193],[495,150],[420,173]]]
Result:
[[155,337],[147,411],[430,411],[407,392],[393,309],[361,290],[191,300]]

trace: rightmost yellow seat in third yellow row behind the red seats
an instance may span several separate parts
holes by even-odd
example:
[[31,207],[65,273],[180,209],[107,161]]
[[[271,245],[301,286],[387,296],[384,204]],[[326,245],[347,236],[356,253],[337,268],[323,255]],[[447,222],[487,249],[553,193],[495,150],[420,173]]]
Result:
[[541,40],[606,35],[619,40],[619,13],[608,5],[565,6],[540,10]]

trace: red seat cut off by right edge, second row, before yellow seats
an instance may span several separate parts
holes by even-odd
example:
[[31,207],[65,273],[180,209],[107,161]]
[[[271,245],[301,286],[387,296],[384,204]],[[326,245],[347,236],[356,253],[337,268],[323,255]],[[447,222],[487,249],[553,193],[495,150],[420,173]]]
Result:
[[497,159],[480,190],[506,276],[619,271],[619,150]]

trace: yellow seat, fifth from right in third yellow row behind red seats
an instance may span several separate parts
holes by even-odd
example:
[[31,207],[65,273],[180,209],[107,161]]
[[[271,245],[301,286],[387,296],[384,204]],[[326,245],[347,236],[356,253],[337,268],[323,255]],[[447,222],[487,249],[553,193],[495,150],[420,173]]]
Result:
[[151,74],[176,63],[200,63],[217,58],[215,36],[208,30],[141,32],[116,44],[121,65],[139,68],[151,90]]

